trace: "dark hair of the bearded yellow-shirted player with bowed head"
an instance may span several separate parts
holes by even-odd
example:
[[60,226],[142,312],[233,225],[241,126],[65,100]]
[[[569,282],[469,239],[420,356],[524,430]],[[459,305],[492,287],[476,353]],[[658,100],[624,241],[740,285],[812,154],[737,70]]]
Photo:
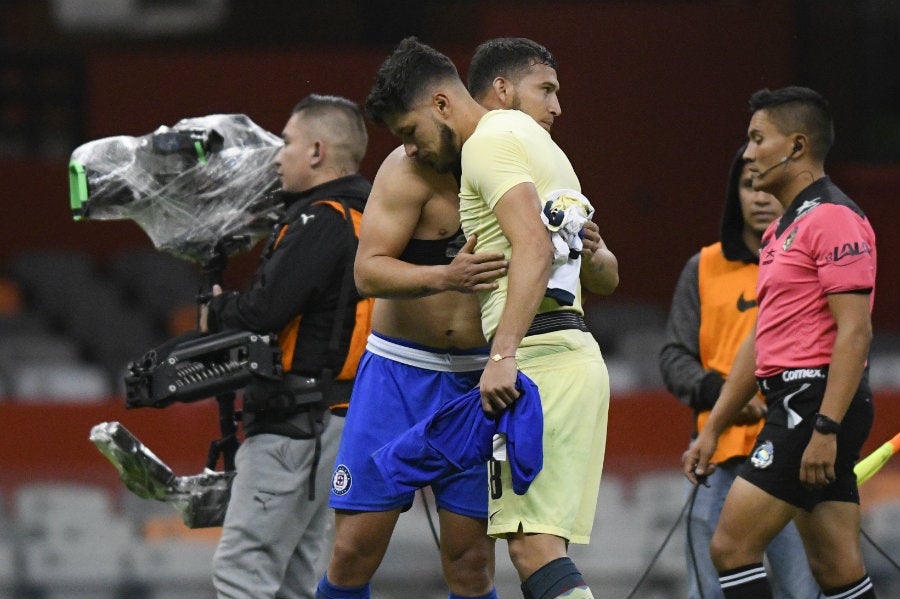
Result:
[[449,78],[459,79],[453,62],[416,37],[408,37],[378,68],[366,98],[366,116],[384,125],[386,118],[411,110],[431,83]]

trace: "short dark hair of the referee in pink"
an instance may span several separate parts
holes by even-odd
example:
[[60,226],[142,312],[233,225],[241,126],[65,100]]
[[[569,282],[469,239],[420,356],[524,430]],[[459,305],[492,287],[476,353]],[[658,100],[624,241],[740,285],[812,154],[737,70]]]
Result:
[[765,110],[778,130],[788,135],[803,133],[809,139],[810,153],[825,160],[834,144],[834,122],[828,101],[808,87],[761,89],[750,97],[750,112]]

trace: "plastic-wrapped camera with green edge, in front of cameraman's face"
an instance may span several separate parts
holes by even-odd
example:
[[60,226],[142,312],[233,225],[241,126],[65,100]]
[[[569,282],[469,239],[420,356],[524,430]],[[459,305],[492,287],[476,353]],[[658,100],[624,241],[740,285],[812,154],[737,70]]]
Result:
[[69,192],[76,220],[130,219],[154,246],[204,263],[268,234],[278,216],[281,139],[242,114],[187,118],[139,137],[75,149]]

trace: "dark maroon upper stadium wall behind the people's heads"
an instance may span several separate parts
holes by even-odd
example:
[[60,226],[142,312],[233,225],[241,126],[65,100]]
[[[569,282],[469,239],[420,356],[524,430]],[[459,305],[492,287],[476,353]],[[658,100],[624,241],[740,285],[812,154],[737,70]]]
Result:
[[[528,36],[556,55],[563,116],[554,135],[619,258],[617,296],[667,304],[684,261],[717,237],[724,176],[745,137],[747,98],[760,87],[794,82],[790,3],[492,2],[473,10],[478,31],[467,39]],[[760,11],[767,15],[762,41],[753,25]],[[87,51],[87,134],[143,135],[217,112],[243,112],[279,132],[307,93],[364,100],[390,49],[100,46]],[[472,48],[441,49],[465,76]],[[370,135],[363,171],[374,176],[396,140],[377,128]],[[887,223],[897,222],[900,204],[891,192],[900,168],[834,172],[877,215],[876,229],[886,233]],[[0,177],[9,190],[0,202],[0,263],[33,247],[81,249],[103,259],[149,244],[130,222],[73,223],[64,161],[0,159]],[[898,254],[900,239],[882,234],[879,242],[882,256]],[[242,281],[254,263],[239,258],[232,280]],[[900,330],[898,288],[900,271],[882,268],[875,316],[881,328]]]

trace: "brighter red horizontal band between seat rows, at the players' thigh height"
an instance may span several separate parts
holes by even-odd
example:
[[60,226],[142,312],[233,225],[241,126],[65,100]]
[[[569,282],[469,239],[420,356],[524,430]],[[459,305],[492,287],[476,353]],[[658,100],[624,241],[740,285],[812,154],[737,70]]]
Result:
[[[900,392],[876,393],[875,408],[863,455],[900,432]],[[2,402],[0,488],[41,479],[121,487],[113,466],[88,439],[94,425],[111,421],[121,422],[176,474],[197,474],[209,442],[218,438],[217,416],[212,400],[161,410],[125,410],[116,398],[87,405]],[[692,427],[689,410],[664,391],[614,397],[604,470],[626,478],[677,471]]]

